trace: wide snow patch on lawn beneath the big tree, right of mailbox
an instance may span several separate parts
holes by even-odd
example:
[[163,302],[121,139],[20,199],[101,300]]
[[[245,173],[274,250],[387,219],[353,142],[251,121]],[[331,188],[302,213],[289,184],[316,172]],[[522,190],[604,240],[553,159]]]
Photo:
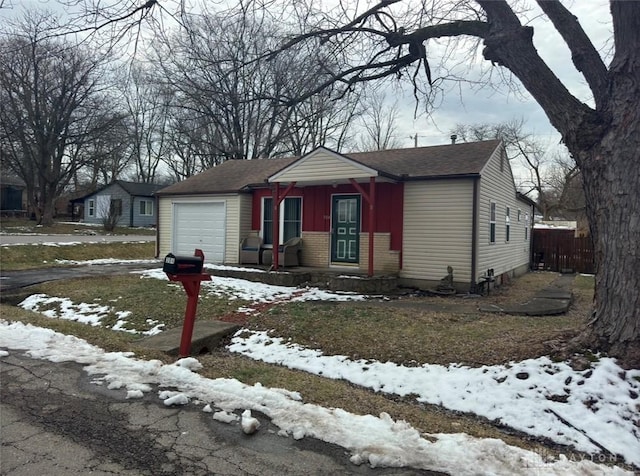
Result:
[[229,350],[376,392],[416,395],[419,402],[481,415],[587,453],[600,452],[597,442],[640,466],[640,371],[624,372],[613,359],[602,358],[586,371],[547,357],[479,368],[404,367],[323,355],[248,330],[236,334]]

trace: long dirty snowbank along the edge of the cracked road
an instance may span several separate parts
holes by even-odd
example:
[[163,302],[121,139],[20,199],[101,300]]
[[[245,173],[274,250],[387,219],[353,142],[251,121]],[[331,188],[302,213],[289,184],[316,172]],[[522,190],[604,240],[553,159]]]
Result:
[[0,321],[0,330],[0,347],[26,350],[33,358],[52,362],[79,362],[94,383],[123,389],[130,398],[155,386],[170,387],[177,391],[158,390],[167,406],[197,400],[206,403],[203,411],[210,412],[211,406],[219,409],[215,412],[218,421],[237,424],[236,418],[221,415],[239,412],[248,418],[247,410],[261,412],[280,428],[280,435],[314,437],[340,445],[350,452],[354,464],[413,467],[456,475],[631,474],[589,460],[561,458],[547,462],[534,452],[497,439],[465,434],[434,434],[427,439],[406,422],[394,421],[385,413],[354,415],[339,408],[305,404],[298,393],[284,389],[248,386],[232,379],[206,379],[192,370],[198,367],[193,358],[165,365],[157,360],[138,360],[130,354],[105,352],[74,336],[19,322]]

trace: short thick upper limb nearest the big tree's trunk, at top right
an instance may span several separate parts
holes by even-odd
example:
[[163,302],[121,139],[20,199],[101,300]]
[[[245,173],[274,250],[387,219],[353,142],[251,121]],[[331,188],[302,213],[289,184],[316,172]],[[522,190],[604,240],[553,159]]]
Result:
[[600,108],[607,93],[607,67],[602,58],[578,19],[564,5],[558,0],[537,0],[537,2],[569,47],[573,64],[587,80],[593,93],[596,109]]

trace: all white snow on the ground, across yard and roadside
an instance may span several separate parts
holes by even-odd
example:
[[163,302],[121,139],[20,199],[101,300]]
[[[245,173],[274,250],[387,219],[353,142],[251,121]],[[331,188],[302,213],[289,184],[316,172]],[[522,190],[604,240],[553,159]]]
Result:
[[[138,273],[140,279],[167,280],[159,268]],[[253,303],[366,298],[218,277],[203,282],[202,295],[207,294]],[[95,303],[73,303],[64,296],[34,295],[21,306],[37,312],[52,299],[64,303],[59,313],[45,312],[52,319],[100,325],[100,315],[105,313]],[[248,306],[245,312],[258,311]],[[114,330],[142,331],[128,328],[126,318],[126,312],[122,313]],[[147,324],[153,333],[163,329],[161,322]],[[376,392],[411,395],[418,402],[497,419],[525,433],[568,445],[567,451],[560,459],[551,461],[549,455],[512,447],[501,440],[463,433],[422,435],[408,423],[394,421],[384,413],[355,415],[340,408],[305,403],[303,395],[287,389],[271,389],[261,384],[247,386],[233,379],[206,379],[198,374],[201,366],[195,358],[172,364],[144,361],[131,353],[105,352],[49,329],[0,320],[0,358],[19,352],[53,362],[79,362],[96,385],[121,389],[130,399],[153,392],[167,406],[196,405],[211,413],[212,418],[236,425],[238,431],[256,431],[251,411],[259,411],[280,428],[281,436],[313,437],[340,445],[349,452],[354,464],[411,467],[456,475],[632,474],[617,466],[599,464],[609,458],[599,454],[600,445],[617,455],[611,457],[611,462],[626,462],[640,468],[637,411],[640,370],[625,372],[613,359],[600,358],[592,369],[584,371],[547,357],[479,368],[455,363],[404,367],[391,362],[324,355],[268,332],[247,330],[233,337],[228,350],[326,378],[347,380]],[[159,387],[177,390],[168,392]],[[592,456],[579,457],[573,449]]]

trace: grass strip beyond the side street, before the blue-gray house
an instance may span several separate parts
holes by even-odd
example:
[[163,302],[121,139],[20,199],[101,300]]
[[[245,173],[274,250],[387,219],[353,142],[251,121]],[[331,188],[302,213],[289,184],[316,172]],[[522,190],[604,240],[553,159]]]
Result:
[[0,220],[0,232],[2,233],[36,233],[47,235],[155,235],[154,228],[130,228],[116,227],[115,230],[107,233],[101,225],[87,223],[73,223],[67,221],[56,221],[51,226],[41,226],[35,220],[26,218],[6,218]]

